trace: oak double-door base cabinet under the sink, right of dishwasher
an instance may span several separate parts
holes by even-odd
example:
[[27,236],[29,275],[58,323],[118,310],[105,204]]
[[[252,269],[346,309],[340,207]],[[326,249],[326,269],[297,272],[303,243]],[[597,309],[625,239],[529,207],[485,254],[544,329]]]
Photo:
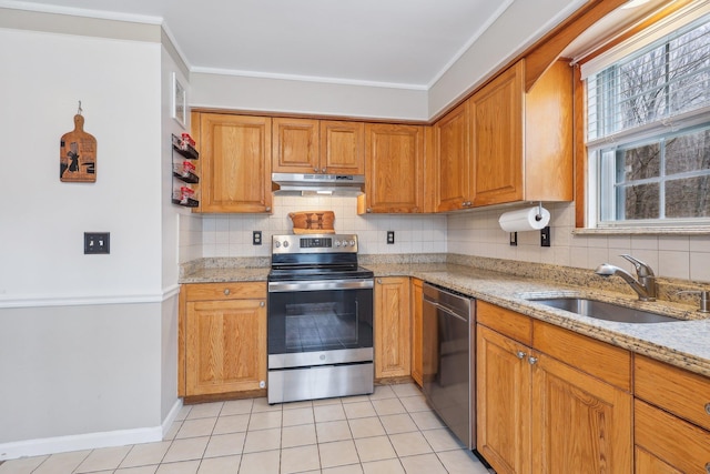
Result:
[[631,354],[481,301],[477,317],[477,448],[496,472],[631,472]]

